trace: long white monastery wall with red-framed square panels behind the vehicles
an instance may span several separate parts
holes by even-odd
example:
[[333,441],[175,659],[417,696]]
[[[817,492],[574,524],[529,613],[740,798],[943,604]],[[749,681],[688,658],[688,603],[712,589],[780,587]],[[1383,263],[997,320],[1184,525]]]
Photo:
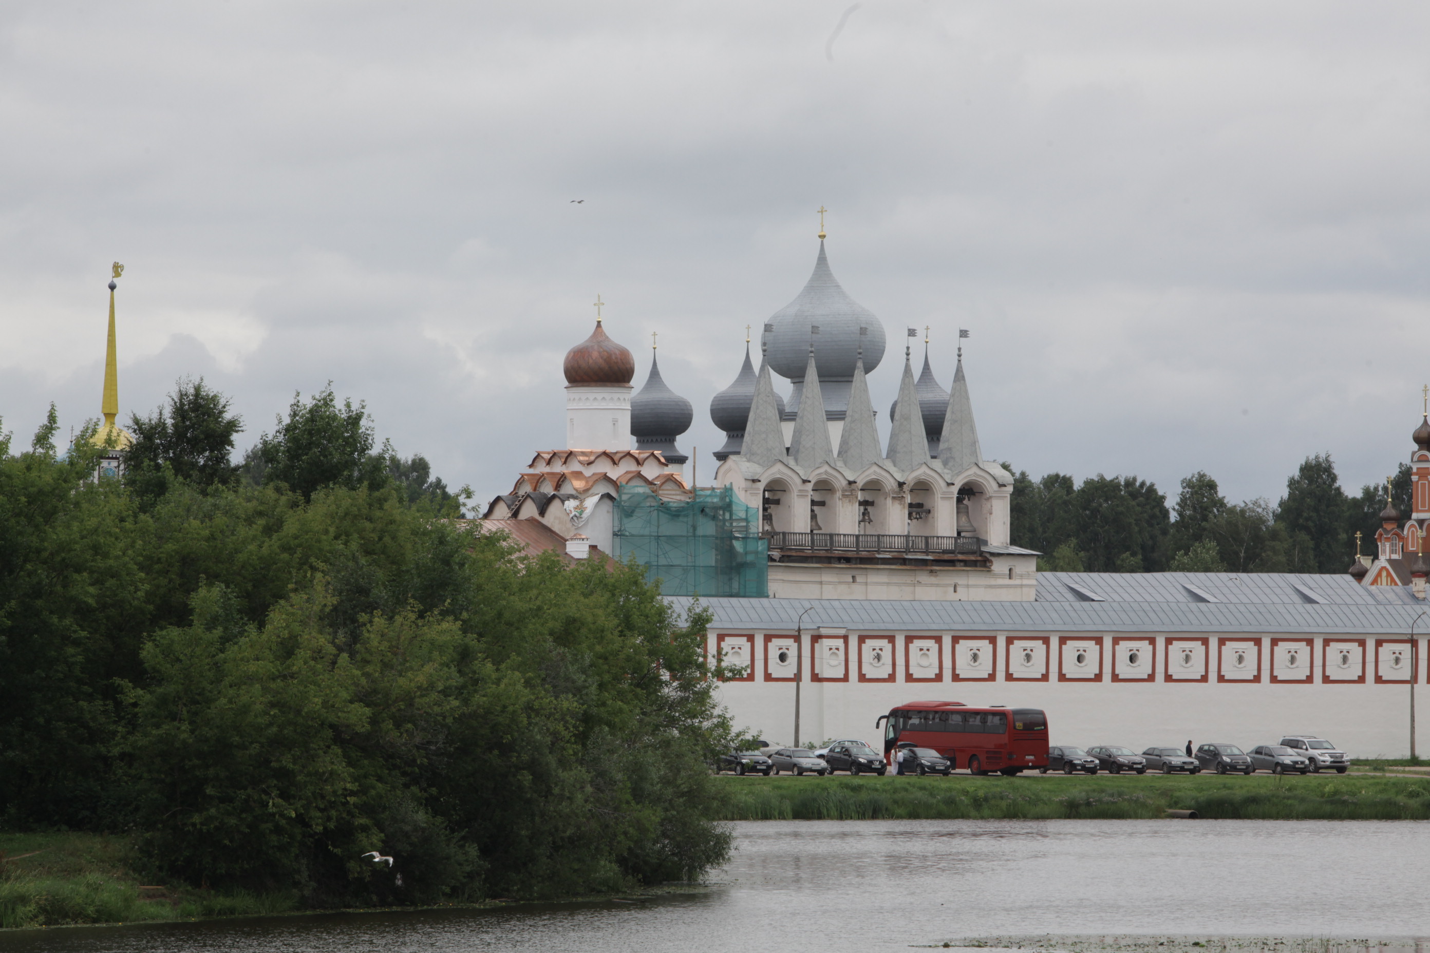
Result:
[[[1404,637],[825,633],[804,634],[802,742],[855,737],[882,747],[879,714],[914,700],[952,700],[1042,709],[1052,744],[1140,752],[1190,739],[1250,749],[1320,734],[1353,757],[1409,754]],[[729,662],[754,656],[752,670],[718,692],[736,729],[791,743],[794,644],[789,632],[711,630],[711,652]],[[1419,654],[1417,683],[1426,677],[1424,646]],[[1430,706],[1430,693],[1417,700]],[[1421,722],[1430,724],[1430,707]],[[1430,729],[1419,747],[1430,747]]]

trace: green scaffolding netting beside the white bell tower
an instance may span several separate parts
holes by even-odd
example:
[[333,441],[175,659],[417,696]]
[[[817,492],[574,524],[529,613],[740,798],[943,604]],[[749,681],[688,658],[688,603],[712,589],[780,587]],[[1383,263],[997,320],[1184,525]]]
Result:
[[769,594],[769,540],[759,537],[759,512],[735,487],[695,490],[691,500],[665,500],[649,487],[623,486],[616,499],[615,550],[633,554],[666,596]]

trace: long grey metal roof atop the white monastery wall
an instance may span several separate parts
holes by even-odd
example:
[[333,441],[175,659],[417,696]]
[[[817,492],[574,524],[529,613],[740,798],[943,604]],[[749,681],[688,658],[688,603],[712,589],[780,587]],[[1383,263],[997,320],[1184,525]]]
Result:
[[[1114,586],[1110,577],[1121,582]],[[842,626],[857,632],[1135,632],[1135,633],[1303,633],[1303,634],[1404,634],[1426,603],[1410,593],[1383,587],[1377,593],[1348,576],[1294,573],[1040,573],[1038,602],[908,602],[878,599],[701,599],[715,613],[712,629],[792,630],[807,607],[805,627]],[[1224,577],[1226,589],[1214,580]],[[1135,582],[1127,582],[1135,580]],[[1183,580],[1205,593],[1226,592],[1241,602],[1200,602],[1191,593],[1178,597],[1170,586]],[[1068,590],[1044,600],[1048,586],[1065,589],[1072,582],[1104,596],[1083,602]],[[1101,590],[1094,586],[1103,586]],[[1327,602],[1316,603],[1297,589],[1304,586]],[[1351,592],[1358,589],[1361,592]],[[684,613],[689,596],[668,602]]]

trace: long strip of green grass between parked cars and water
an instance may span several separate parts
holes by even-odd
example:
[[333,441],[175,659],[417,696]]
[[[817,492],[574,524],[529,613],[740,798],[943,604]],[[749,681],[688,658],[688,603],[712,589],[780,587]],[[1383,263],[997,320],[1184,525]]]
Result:
[[1208,819],[1427,820],[1430,779],[1366,774],[734,777],[721,820]]

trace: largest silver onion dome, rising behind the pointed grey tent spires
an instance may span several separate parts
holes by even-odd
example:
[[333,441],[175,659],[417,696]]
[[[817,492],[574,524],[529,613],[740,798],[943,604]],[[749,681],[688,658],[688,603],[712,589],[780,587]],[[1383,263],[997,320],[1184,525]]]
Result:
[[[818,326],[819,331],[811,333],[811,326]],[[795,383],[789,407],[784,414],[785,420],[799,411],[799,393],[811,343],[815,367],[819,371],[825,414],[829,420],[844,420],[859,344],[864,346],[865,373],[872,373],[884,357],[884,324],[874,311],[855,301],[839,286],[829,270],[822,240],[814,273],[804,290],[795,300],[775,311],[766,327],[769,330],[764,333],[761,341],[768,347],[769,369]],[[868,329],[862,336],[861,327]]]

